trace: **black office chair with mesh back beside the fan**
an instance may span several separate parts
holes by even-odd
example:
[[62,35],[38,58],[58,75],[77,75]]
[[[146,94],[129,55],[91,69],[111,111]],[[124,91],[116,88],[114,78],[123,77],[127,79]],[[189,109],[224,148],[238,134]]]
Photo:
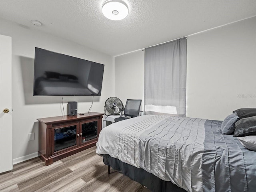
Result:
[[[124,109],[119,109],[121,111],[120,117],[115,119],[115,122],[123,121],[128,118],[138,117],[140,112],[141,99],[127,99]],[[124,111],[124,116],[121,117],[122,111]]]

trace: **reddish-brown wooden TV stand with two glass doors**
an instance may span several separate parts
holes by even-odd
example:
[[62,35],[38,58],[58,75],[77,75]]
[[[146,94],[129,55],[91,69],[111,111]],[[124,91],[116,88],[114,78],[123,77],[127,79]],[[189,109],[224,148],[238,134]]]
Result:
[[39,157],[50,165],[96,145],[102,129],[104,113],[58,116],[39,121]]

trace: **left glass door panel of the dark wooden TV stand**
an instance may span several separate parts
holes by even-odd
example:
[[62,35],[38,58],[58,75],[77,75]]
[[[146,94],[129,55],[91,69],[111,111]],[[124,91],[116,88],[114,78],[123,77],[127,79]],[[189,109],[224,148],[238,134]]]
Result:
[[75,146],[77,125],[60,127],[54,129],[54,152]]

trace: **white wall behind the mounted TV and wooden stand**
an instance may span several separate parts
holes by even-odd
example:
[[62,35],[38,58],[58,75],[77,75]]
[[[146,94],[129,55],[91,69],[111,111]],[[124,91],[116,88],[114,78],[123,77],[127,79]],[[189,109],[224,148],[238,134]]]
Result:
[[[33,96],[35,47],[105,64],[101,96],[94,97],[91,111],[104,112],[104,103],[114,95],[114,58],[62,38],[31,28],[0,20],[0,34],[12,37],[12,108],[14,163],[35,156],[38,152],[38,118],[61,116],[62,97]],[[88,112],[91,96],[64,96],[67,101],[78,101],[78,113]],[[35,140],[28,141],[28,134]]]

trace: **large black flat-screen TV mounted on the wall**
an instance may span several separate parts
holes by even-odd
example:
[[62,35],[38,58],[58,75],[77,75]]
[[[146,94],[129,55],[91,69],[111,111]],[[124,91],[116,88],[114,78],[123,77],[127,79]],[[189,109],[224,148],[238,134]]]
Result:
[[35,48],[34,96],[101,95],[104,65]]

